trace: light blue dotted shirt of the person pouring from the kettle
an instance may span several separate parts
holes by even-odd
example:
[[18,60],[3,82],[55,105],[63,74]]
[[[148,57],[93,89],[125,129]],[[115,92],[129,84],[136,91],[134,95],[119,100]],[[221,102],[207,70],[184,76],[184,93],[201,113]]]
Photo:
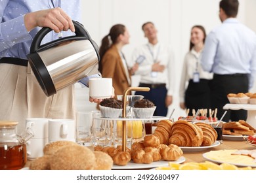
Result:
[[[27,59],[33,37],[41,29],[36,27],[28,32],[24,25],[24,15],[37,10],[60,7],[72,20],[81,22],[79,0],[1,0],[0,1],[0,58]],[[63,37],[74,35],[72,31],[63,31]],[[41,44],[58,39],[58,33],[51,31]],[[96,75],[98,76],[98,75]],[[93,77],[93,76],[90,76]],[[87,86],[89,78],[81,80]]]

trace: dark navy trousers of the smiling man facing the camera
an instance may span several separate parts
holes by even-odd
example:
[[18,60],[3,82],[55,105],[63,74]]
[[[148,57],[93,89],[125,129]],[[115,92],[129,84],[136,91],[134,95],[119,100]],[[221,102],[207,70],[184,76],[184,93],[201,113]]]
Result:
[[[143,85],[139,85],[144,87]],[[167,95],[167,89],[165,86],[159,88],[150,88],[149,92],[135,92],[135,95],[143,95],[144,99],[148,99],[156,105],[154,116],[166,116],[168,108],[165,106],[165,97]]]

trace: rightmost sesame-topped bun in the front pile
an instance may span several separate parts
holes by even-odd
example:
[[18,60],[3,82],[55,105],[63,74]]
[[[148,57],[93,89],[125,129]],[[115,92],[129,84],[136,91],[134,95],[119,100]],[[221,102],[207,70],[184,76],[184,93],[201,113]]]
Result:
[[95,170],[111,170],[113,159],[102,151],[95,151]]

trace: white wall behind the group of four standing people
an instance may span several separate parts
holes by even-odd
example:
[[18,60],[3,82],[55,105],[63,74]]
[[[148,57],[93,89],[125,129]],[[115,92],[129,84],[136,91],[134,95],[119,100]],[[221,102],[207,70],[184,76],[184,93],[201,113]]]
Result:
[[[255,0],[240,0],[238,19],[256,31],[255,8]],[[183,58],[188,52],[190,29],[200,24],[209,33],[213,27],[220,25],[219,0],[82,0],[82,9],[82,24],[98,46],[112,25],[124,24],[127,27],[131,35],[130,44],[123,48],[127,59],[131,58],[135,46],[146,42],[141,25],[147,21],[154,22],[159,41],[171,44],[175,52],[176,91],[169,112],[175,108],[175,119],[184,115],[179,108],[178,90]],[[136,85],[138,77],[134,77],[133,81]],[[79,93],[87,94],[84,90],[87,89],[79,89]],[[77,103],[79,110],[95,108],[93,104],[86,106],[89,103],[87,97],[81,94]]]

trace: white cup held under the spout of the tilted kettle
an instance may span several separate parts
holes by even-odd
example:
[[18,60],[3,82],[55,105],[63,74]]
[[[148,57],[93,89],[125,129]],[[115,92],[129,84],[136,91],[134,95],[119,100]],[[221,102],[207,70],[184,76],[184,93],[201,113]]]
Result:
[[95,99],[106,99],[113,95],[112,78],[90,78],[89,96]]

